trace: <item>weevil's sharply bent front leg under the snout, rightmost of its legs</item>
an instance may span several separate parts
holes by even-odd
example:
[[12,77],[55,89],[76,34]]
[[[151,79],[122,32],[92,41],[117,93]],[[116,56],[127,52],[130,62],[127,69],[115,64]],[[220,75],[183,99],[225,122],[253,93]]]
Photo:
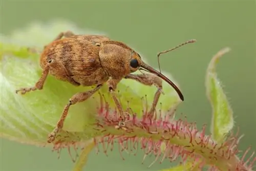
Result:
[[157,87],[157,91],[155,93],[154,96],[154,100],[151,106],[150,111],[147,113],[147,116],[153,117],[155,110],[156,110],[156,106],[159,100],[159,97],[161,95],[162,92],[162,79],[153,75],[153,74],[129,74],[127,76],[125,76],[124,78],[128,78],[128,79],[133,79],[136,80],[146,86],[152,86],[154,84],[154,86]]

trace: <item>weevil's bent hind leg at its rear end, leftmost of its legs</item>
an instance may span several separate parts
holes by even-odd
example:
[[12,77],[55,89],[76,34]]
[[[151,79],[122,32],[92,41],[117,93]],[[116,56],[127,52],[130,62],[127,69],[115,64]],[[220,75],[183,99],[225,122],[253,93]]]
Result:
[[27,92],[30,92],[30,91],[41,90],[42,87],[44,87],[44,83],[45,83],[46,78],[48,76],[48,73],[49,73],[49,70],[50,70],[50,65],[52,63],[53,63],[52,59],[48,61],[48,63],[46,64],[44,70],[42,70],[41,77],[35,83],[34,87],[21,88],[21,89],[16,90],[16,93],[21,92],[21,94],[26,94]]

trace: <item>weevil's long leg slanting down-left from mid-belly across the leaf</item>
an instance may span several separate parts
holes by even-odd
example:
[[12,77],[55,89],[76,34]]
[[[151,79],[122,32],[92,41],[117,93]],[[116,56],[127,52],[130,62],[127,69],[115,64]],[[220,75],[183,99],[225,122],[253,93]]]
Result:
[[69,108],[71,105],[74,105],[76,103],[82,102],[87,100],[89,97],[91,97],[95,92],[97,92],[100,88],[102,87],[101,84],[99,84],[96,88],[94,88],[93,90],[87,91],[87,92],[81,92],[81,93],[76,93],[75,95],[73,95],[70,100],[69,103],[65,106],[56,127],[54,128],[54,130],[49,134],[48,137],[48,142],[51,143],[55,140],[56,135],[58,134],[58,132],[62,129],[63,127],[63,123],[68,115],[69,112]]

